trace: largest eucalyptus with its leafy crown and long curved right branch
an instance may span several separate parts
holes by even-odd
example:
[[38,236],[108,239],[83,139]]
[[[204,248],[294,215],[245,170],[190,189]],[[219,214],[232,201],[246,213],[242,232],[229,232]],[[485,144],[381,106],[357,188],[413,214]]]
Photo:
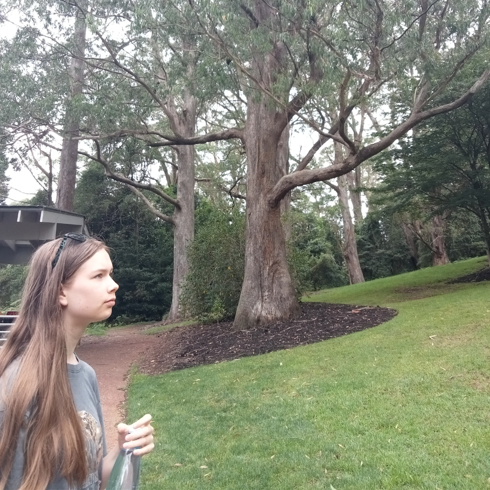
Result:
[[[403,5],[202,0],[192,5],[197,31],[212,41],[217,58],[233,64],[247,98],[245,126],[223,135],[240,137],[247,155],[245,276],[234,328],[293,318],[299,304],[287,269],[281,200],[298,186],[351,172],[418,123],[471,98],[489,78],[488,69],[460,97],[434,103],[487,42],[488,7],[450,0]],[[412,111],[361,147],[348,137],[346,120],[366,100],[375,109],[385,88],[393,97],[414,100]],[[314,116],[325,89],[340,108],[338,121],[327,130]],[[346,148],[343,160],[310,170],[305,159],[294,172],[281,172],[279,142],[293,118],[319,134],[309,154],[334,140]]]

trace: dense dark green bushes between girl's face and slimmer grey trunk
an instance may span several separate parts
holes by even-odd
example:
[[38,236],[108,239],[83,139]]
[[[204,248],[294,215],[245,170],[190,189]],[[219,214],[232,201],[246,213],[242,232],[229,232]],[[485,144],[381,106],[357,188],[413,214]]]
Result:
[[172,227],[157,220],[125,186],[107,179],[98,164],[80,175],[75,211],[87,217],[91,232],[111,249],[119,284],[111,320],[161,319],[172,303]]

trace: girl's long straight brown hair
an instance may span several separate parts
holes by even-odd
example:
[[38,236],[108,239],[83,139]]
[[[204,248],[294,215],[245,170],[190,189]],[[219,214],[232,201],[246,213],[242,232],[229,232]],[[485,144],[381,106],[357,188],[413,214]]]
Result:
[[61,240],[53,240],[34,252],[19,318],[0,349],[0,376],[7,378],[7,368],[15,360],[19,362],[4,400],[0,490],[5,488],[24,424],[25,464],[19,490],[44,489],[58,471],[70,485],[82,484],[87,477],[85,440],[68,379],[67,340],[59,294],[62,284],[67,284],[85,261],[107,248],[94,238],[83,243],[69,238],[53,269],[51,262]]

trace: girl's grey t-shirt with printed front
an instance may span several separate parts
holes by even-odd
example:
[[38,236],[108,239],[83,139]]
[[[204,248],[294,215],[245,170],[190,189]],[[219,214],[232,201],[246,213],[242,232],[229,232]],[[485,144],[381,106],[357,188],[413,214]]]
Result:
[[[13,381],[19,362],[14,361],[0,378],[0,427],[3,422],[5,406],[1,400],[2,389]],[[85,435],[85,450],[87,453],[88,477],[85,483],[76,490],[99,490],[102,479],[102,458],[107,454],[107,445],[104,434],[104,421],[100,406],[97,377],[93,368],[80,361],[78,364],[68,364],[68,378],[72,388],[73,400],[80,415]],[[2,383],[3,381],[3,383]],[[3,384],[3,386],[2,386]],[[28,415],[26,415],[27,417]],[[21,486],[24,470],[25,429],[19,433],[14,462],[10,471],[5,490],[17,490]],[[46,490],[74,490],[70,489],[68,482],[57,476],[46,487]]]

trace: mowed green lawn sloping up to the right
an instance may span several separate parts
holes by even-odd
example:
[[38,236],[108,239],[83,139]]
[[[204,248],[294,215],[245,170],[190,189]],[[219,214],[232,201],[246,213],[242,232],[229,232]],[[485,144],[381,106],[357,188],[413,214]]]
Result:
[[399,311],[363,332],[133,376],[129,421],[156,429],[141,489],[489,489],[490,285],[444,284],[484,265],[307,298]]

